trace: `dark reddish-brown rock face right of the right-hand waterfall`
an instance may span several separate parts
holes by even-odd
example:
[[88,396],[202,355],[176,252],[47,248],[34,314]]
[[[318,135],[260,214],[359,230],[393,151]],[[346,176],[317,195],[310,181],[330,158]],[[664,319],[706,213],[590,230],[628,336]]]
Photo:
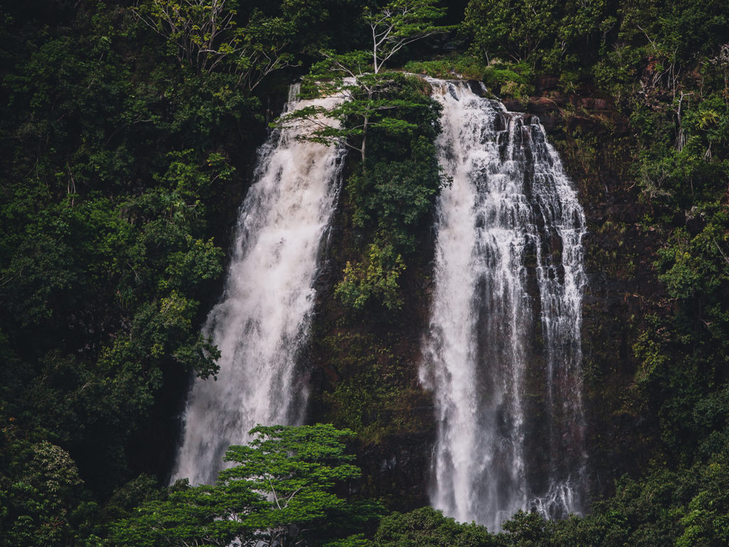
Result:
[[566,94],[558,83],[542,77],[526,105],[504,102],[539,117],[588,219],[582,347],[590,486],[599,496],[611,492],[615,478],[637,473],[653,454],[657,424],[636,399],[633,346],[644,317],[663,311],[665,294],[652,267],[658,241],[641,226],[650,211],[639,201],[631,171],[636,147],[628,120],[599,90]]

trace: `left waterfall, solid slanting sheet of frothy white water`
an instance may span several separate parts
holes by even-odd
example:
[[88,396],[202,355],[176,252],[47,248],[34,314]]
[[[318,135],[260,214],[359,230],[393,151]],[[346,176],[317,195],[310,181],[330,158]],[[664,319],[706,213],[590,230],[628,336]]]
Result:
[[[296,101],[329,108],[340,98]],[[222,300],[204,332],[221,357],[217,381],[195,381],[173,478],[211,484],[230,444],[256,424],[303,419],[306,382],[296,363],[310,325],[319,249],[338,193],[343,151],[273,134],[259,151],[255,182],[241,206]]]

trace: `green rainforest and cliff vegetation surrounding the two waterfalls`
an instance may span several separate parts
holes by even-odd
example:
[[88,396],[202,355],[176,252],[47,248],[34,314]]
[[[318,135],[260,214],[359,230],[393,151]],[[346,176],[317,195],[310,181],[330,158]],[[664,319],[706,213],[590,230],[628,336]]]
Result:
[[[729,544],[725,1],[5,4],[0,546]],[[400,342],[419,335],[450,183],[413,74],[557,112],[590,283],[617,302],[585,308],[602,473],[585,516],[521,512],[495,534],[376,479],[371,454],[426,398]],[[218,370],[200,325],[256,149],[319,114],[276,118],[297,79],[351,99],[308,137],[350,150],[311,333],[345,371],[313,395],[334,426],[258,427],[217,484],[168,486],[190,381]]]

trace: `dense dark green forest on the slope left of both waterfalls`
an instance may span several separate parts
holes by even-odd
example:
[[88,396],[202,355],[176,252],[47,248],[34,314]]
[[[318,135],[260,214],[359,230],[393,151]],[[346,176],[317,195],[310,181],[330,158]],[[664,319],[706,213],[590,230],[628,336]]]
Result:
[[123,485],[164,476],[190,375],[217,370],[199,325],[292,77],[270,69],[348,43],[356,30],[322,32],[346,4],[229,2],[217,39],[232,45],[199,65],[199,25],[169,36],[169,3],[0,8],[1,545],[81,544],[154,497]]

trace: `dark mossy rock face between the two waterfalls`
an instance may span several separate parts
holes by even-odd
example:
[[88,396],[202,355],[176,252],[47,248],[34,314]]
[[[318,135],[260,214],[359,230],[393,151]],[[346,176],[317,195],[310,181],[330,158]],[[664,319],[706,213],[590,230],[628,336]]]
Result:
[[403,274],[402,309],[358,314],[343,307],[334,287],[363,237],[351,222],[343,193],[316,287],[316,316],[305,363],[312,386],[308,422],[355,430],[362,493],[409,511],[428,504],[434,445],[432,398],[418,382],[431,290],[432,234],[421,234],[416,264]]

